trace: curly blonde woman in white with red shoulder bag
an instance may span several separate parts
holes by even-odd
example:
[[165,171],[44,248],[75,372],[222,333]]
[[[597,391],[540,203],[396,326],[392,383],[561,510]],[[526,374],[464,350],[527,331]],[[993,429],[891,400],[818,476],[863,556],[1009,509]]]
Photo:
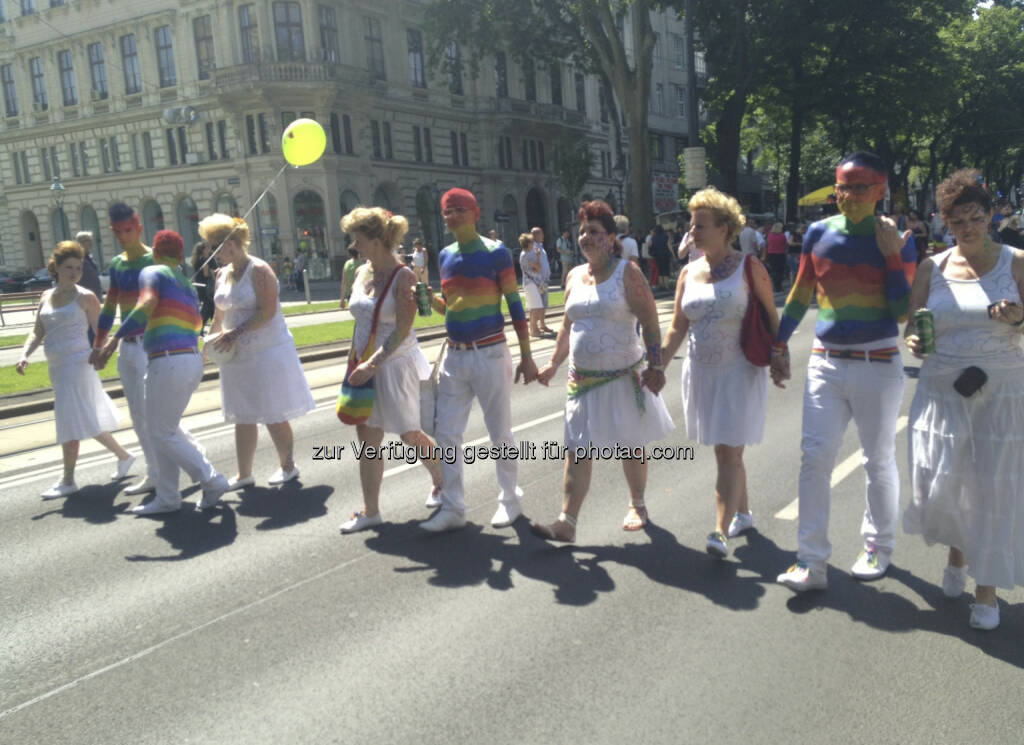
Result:
[[[739,204],[709,187],[693,194],[688,209],[693,216],[690,235],[703,256],[679,274],[664,358],[671,361],[683,339],[687,340],[683,362],[686,434],[702,445],[715,446],[717,517],[707,549],[712,556],[724,558],[729,553],[727,539],[754,527],[743,447],[761,442],[764,436],[768,392],[768,368],[755,366],[743,356],[739,330],[746,306],[761,303],[775,337],[778,312],[764,265],[753,255],[730,248],[746,222]],[[751,262],[753,284],[746,278],[746,262]]]

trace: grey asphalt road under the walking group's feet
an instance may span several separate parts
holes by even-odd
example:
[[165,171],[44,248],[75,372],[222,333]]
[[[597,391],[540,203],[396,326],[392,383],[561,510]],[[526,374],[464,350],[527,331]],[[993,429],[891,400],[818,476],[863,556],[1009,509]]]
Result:
[[[793,344],[797,379],[769,397],[768,438],[746,454],[758,530],[727,561],[703,551],[715,463],[700,447],[650,465],[642,533],[620,528],[612,463],[595,469],[575,545],[548,545],[523,520],[494,529],[494,471],[478,463],[466,529],[421,531],[426,472],[389,464],[388,523],[340,536],[360,496],[353,431],[333,414],[337,365],[308,371],[323,405],[295,423],[301,483],[265,486],[263,433],[261,485],[208,513],[128,514],[130,482],[105,483],[113,457],[85,447],[89,486],[43,502],[58,473],[52,424],[5,422],[0,743],[1020,743],[1024,591],[1002,594],[998,630],[971,630],[969,596],[939,588],[943,550],[905,535],[888,576],[853,580],[853,428],[834,479],[829,589],[774,584],[796,546],[812,322]],[[679,429],[663,444],[688,444],[680,366],[664,394]],[[230,471],[214,399],[197,394],[186,426]],[[543,521],[559,510],[561,465],[540,448],[561,439],[563,400],[561,383],[515,392],[517,437],[539,447],[520,464],[524,508]],[[484,437],[474,408],[467,442]],[[318,445],[345,449],[313,462]]]

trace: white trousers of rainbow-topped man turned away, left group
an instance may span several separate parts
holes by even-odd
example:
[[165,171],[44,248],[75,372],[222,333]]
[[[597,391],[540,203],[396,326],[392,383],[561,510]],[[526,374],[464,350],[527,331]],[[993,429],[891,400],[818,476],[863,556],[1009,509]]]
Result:
[[157,498],[181,502],[179,469],[193,481],[206,484],[218,474],[196,439],[181,429],[181,414],[203,380],[199,354],[177,354],[150,360],[145,378],[145,414],[157,458]]

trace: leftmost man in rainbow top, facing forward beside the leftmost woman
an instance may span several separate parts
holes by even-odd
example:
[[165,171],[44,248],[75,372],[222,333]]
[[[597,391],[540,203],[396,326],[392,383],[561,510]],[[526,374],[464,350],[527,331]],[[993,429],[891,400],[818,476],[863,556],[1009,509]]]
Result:
[[[142,224],[138,214],[123,202],[111,205],[109,215],[111,230],[114,237],[121,244],[123,253],[111,259],[111,286],[106,291],[103,307],[99,310],[99,320],[96,323],[96,338],[93,341],[92,354],[89,362],[102,368],[106,360],[118,348],[118,339],[108,339],[118,308],[121,309],[121,320],[131,312],[138,301],[138,275],[153,264],[153,253],[142,243]],[[139,328],[132,335],[122,335],[120,341],[121,353],[118,355],[118,376],[124,388],[125,400],[131,414],[131,424],[135,428],[139,447],[145,455],[145,479],[134,486],[125,489],[126,494],[144,494],[153,491],[157,483],[156,455],[150,444],[150,433],[145,422],[145,371],[147,367],[145,351],[142,349],[142,332]],[[99,363],[99,359],[102,363]]]

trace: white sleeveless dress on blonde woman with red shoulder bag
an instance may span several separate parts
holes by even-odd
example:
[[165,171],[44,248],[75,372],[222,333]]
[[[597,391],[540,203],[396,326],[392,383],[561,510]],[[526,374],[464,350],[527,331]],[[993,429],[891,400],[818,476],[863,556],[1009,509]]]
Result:
[[765,430],[768,368],[746,361],[739,346],[746,304],[746,257],[717,282],[686,282],[682,312],[690,321],[683,362],[686,434],[701,445],[754,445]]

